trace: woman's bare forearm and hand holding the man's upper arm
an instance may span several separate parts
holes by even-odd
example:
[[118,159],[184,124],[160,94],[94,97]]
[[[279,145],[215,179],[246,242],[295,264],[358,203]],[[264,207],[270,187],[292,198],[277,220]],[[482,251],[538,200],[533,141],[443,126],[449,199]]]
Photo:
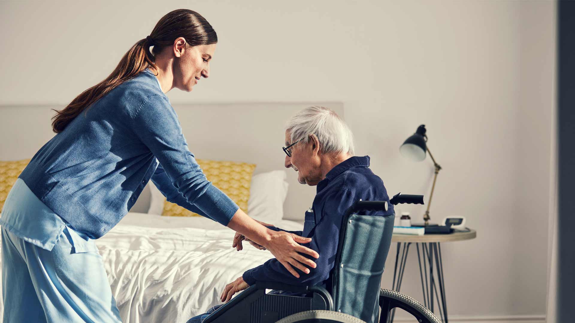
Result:
[[285,231],[270,230],[248,217],[241,209],[238,209],[233,215],[232,220],[228,222],[228,228],[243,234],[256,244],[268,249],[279,263],[281,263],[287,271],[291,272],[292,275],[296,276],[296,278],[300,278],[300,275],[293,267],[309,274],[309,269],[306,268],[304,264],[312,268],[316,268],[317,266],[313,260],[300,255],[301,252],[314,258],[320,257],[315,250],[300,244],[310,243],[312,241],[311,238],[300,237],[297,234]]

